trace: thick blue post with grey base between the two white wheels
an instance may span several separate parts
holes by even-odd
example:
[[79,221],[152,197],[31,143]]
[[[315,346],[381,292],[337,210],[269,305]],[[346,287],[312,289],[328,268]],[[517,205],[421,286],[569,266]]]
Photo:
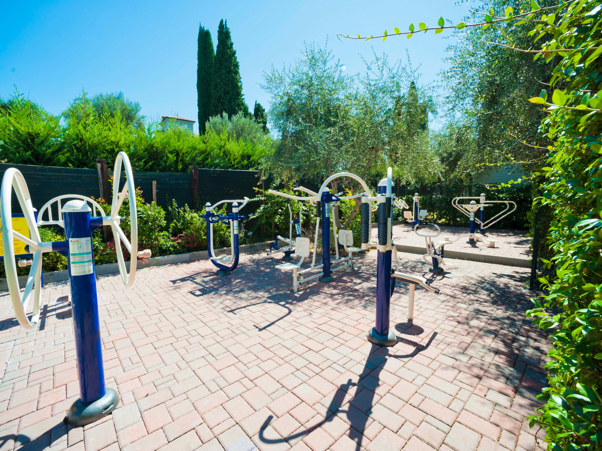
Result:
[[84,201],[70,201],[63,207],[63,220],[80,396],[69,409],[67,421],[87,425],[111,413],[119,403],[116,391],[105,387],[102,364],[92,250],[92,232],[102,225],[102,217],[91,217]]

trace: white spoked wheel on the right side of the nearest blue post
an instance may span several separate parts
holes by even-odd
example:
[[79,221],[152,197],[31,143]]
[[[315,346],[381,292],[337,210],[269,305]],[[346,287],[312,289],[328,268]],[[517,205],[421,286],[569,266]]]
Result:
[[[125,185],[123,185],[121,192],[119,192],[119,179],[121,177],[122,162],[123,169],[125,170],[126,182]],[[121,223],[119,209],[126,197],[129,197],[129,240],[119,225]],[[136,209],[136,187],[134,185],[134,174],[132,174],[132,165],[129,164],[129,158],[125,152],[119,152],[117,158],[115,159],[115,167],[113,170],[113,203],[111,203],[111,216],[109,221],[111,230],[113,231],[113,238],[115,239],[115,252],[117,254],[117,266],[119,266],[119,274],[121,275],[123,284],[125,284],[126,287],[131,287],[134,284],[138,258],[138,216]],[[122,241],[130,255],[129,273],[127,263],[123,258],[123,251],[121,249]]]

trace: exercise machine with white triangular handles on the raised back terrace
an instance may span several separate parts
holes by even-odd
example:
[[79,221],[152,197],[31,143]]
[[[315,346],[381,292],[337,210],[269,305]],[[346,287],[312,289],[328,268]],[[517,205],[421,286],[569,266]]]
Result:
[[[468,199],[479,199],[480,203],[477,204],[474,200],[471,200],[469,204],[458,204],[460,200],[468,200]],[[501,212],[497,213],[495,216],[491,216],[487,221],[485,221],[485,207],[491,207],[495,203],[503,203],[506,204],[506,208],[501,210]],[[514,208],[510,210],[510,204],[514,205]],[[479,232],[482,230],[488,229],[496,222],[500,221],[500,219],[505,218],[510,213],[514,212],[517,209],[517,204],[512,200],[485,200],[485,194],[481,194],[479,197],[455,197],[452,199],[452,206],[462,212],[464,215],[468,216],[470,221],[468,222],[468,233],[464,235],[458,236],[456,239],[452,239],[450,236],[444,236],[445,241],[455,242],[458,241],[463,236],[468,236],[467,243],[475,244],[477,241],[483,242],[483,244],[488,245],[489,247],[495,247],[495,240],[486,240],[483,235],[480,233],[476,233],[476,223],[479,222]],[[476,212],[480,210],[480,218],[476,218]]]

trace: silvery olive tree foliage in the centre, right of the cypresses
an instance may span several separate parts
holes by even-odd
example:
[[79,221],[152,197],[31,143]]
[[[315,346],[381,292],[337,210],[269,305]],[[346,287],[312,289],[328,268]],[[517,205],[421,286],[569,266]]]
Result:
[[270,118],[279,146],[264,159],[264,174],[288,183],[320,183],[347,171],[378,180],[391,166],[402,183],[435,179],[438,159],[428,143],[429,87],[418,73],[385,55],[364,75],[346,75],[327,43],[305,44],[287,69],[264,73]]

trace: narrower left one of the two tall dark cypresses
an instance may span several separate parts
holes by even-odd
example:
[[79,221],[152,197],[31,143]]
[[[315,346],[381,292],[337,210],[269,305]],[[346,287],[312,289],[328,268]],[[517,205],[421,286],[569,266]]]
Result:
[[211,108],[211,88],[213,85],[213,40],[211,32],[199,25],[199,38],[197,50],[196,92],[197,106],[199,107],[199,133],[205,133],[205,123],[209,120]]

